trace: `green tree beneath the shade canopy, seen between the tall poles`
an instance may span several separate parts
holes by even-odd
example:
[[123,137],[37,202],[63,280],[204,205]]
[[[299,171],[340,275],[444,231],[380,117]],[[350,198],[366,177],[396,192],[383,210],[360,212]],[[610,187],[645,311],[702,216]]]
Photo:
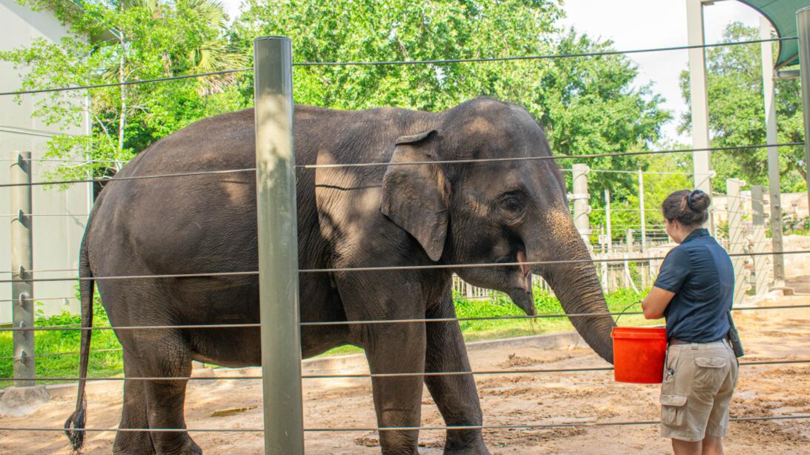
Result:
[[[723,42],[759,39],[757,28],[735,22],[723,32]],[[738,147],[765,143],[765,107],[762,98],[760,45],[734,45],[706,49],[711,147]],[[689,103],[689,72],[680,74],[681,94]],[[778,142],[802,142],[802,100],[799,79],[776,81]],[[689,131],[685,113],[680,130]],[[804,191],[804,148],[780,147],[783,191]],[[767,151],[748,148],[712,152],[717,172],[715,188],[723,191],[725,179],[742,177],[752,185],[767,185]]]

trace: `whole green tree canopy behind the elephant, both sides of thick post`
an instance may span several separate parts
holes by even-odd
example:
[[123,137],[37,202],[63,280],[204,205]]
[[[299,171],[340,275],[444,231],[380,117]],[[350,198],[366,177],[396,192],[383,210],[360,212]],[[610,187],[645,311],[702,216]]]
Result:
[[[555,0],[408,2],[247,0],[230,25],[214,0],[92,0],[83,10],[62,0],[23,0],[56,12],[70,36],[0,53],[23,74],[23,88],[126,82],[249,66],[257,36],[285,35],[296,62],[375,62],[514,57],[611,50],[560,26]],[[87,36],[112,33],[107,40]],[[296,102],[326,108],[384,105],[441,110],[476,96],[525,106],[545,127],[558,155],[653,147],[671,118],[637,67],[621,55],[379,66],[296,66]],[[36,115],[53,124],[78,121],[89,93],[92,135],[54,138],[53,156],[80,150],[119,162],[202,117],[253,104],[252,74],[182,79],[62,92],[42,100]],[[77,107],[78,106],[78,107]],[[590,159],[595,169],[645,168],[634,156]],[[569,168],[570,160],[561,160]],[[65,167],[62,176],[87,175]],[[71,175],[72,174],[72,175]],[[635,177],[595,173],[593,192],[616,200],[634,193]]]

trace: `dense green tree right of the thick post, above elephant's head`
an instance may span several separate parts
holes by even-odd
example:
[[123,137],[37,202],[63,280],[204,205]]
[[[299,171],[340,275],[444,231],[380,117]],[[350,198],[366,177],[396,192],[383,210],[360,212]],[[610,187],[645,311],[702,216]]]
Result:
[[[247,0],[233,34],[245,52],[255,36],[292,38],[296,62],[372,62],[514,57],[612,49],[557,25],[552,0],[408,2]],[[297,66],[296,102],[326,108],[393,105],[441,110],[476,96],[522,104],[544,123],[557,154],[649,147],[669,119],[637,68],[623,56],[383,66]],[[570,167],[570,160],[561,167]],[[597,159],[593,168],[643,165],[635,157]],[[633,179],[596,174],[595,188],[630,192]]]

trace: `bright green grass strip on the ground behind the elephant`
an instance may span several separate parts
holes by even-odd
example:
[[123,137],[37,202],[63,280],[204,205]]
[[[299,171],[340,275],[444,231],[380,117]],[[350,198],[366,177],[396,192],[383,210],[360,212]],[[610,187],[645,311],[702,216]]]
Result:
[[[645,290],[646,291],[646,290]],[[646,292],[645,292],[646,295]],[[488,300],[465,300],[458,296],[455,299],[456,313],[458,317],[501,317],[520,316],[523,311],[515,306],[509,297],[494,292]],[[642,298],[630,289],[623,289],[612,292],[605,297],[608,302],[608,309],[612,313],[618,313],[626,309],[627,312],[641,311],[638,300]],[[629,307],[629,308],[628,308]],[[535,288],[535,308],[538,314],[561,314],[565,313],[561,308],[560,301],[548,292]],[[54,316],[45,317],[39,312],[36,318],[36,325],[75,325],[81,324],[79,315],[71,314],[66,310]],[[643,316],[624,316],[620,319],[621,325],[655,325],[662,321],[646,321]],[[467,342],[497,339],[514,338],[527,335],[552,334],[573,330],[573,326],[566,317],[541,317],[534,319],[513,319],[513,320],[484,320],[484,321],[461,321],[462,334]],[[107,314],[101,306],[100,299],[96,294],[96,301],[93,307],[93,325],[109,326]],[[58,352],[79,351],[80,330],[53,330],[40,331],[36,333],[35,346],[37,354],[53,354]],[[120,349],[121,345],[112,330],[95,330],[92,335],[91,349]],[[326,351],[323,355],[346,355],[363,352],[359,347],[341,346]],[[12,333],[0,332],[0,357],[14,355],[12,351]],[[14,376],[13,362],[11,359],[0,359],[0,377]],[[37,377],[75,377],[79,373],[79,355],[53,355],[36,357]],[[90,355],[90,367],[88,376],[107,377],[121,376],[123,374],[122,351],[92,352]],[[37,381],[38,384],[49,384],[64,381]],[[14,385],[13,381],[0,381],[0,388]]]

